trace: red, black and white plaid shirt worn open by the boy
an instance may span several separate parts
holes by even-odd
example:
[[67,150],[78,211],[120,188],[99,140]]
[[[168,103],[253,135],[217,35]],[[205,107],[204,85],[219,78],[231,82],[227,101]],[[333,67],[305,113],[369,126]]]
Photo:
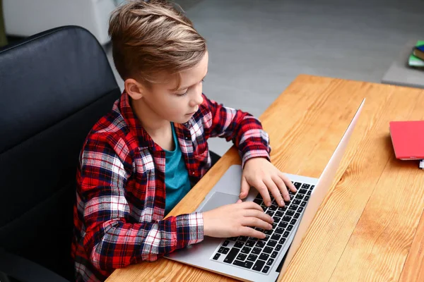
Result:
[[[199,111],[187,123],[175,123],[175,131],[192,186],[211,167],[209,137],[232,140],[242,164],[269,159],[269,138],[257,118],[205,96]],[[141,127],[126,92],[88,134],[77,181],[77,281],[103,281],[114,269],[154,261],[204,238],[201,213],[163,219],[165,151]]]

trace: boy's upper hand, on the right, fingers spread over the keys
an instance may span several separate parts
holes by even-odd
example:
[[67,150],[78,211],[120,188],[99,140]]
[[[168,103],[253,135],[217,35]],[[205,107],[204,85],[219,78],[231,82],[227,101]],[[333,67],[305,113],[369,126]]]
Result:
[[[287,187],[296,192],[295,185],[291,183],[287,176],[278,170],[267,159],[257,157],[246,161],[242,174],[242,188],[240,199],[245,199],[249,193],[250,186],[257,188],[267,207],[271,205],[269,192],[276,199],[280,207],[284,206],[284,199],[290,201]],[[283,197],[281,197],[283,196]]]

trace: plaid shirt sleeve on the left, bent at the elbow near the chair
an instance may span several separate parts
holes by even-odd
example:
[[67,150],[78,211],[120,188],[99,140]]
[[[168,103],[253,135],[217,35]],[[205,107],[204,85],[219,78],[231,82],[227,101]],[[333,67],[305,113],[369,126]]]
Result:
[[[111,271],[145,260],[154,261],[203,240],[201,213],[130,222],[125,185],[132,160],[123,142],[114,144],[110,138],[102,137],[88,139],[80,161],[78,214],[86,226],[84,249],[96,268]],[[141,217],[154,212],[141,210]]]

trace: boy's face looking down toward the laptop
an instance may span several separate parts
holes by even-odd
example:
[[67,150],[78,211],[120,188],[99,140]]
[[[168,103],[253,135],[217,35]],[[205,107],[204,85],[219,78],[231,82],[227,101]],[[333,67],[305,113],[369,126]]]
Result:
[[[164,120],[174,123],[186,123],[199,110],[203,102],[202,82],[208,72],[208,52],[194,68],[180,73],[181,82],[178,90],[177,78],[167,83],[154,84],[140,89],[139,99],[130,96],[140,104],[141,111],[148,114],[149,119]],[[127,91],[128,92],[128,91]],[[141,114],[141,116],[145,116]]]

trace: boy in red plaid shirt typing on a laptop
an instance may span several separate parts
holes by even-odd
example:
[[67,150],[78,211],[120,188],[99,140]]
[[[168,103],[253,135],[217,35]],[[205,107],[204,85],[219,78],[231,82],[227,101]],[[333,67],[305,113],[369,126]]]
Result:
[[206,42],[164,0],[119,6],[109,28],[125,90],[88,134],[78,168],[73,257],[77,281],[153,261],[204,235],[264,238],[273,219],[254,202],[163,219],[211,166],[208,137],[232,140],[242,157],[240,199],[250,185],[281,206],[293,184],[269,162],[261,123],[202,94]]

